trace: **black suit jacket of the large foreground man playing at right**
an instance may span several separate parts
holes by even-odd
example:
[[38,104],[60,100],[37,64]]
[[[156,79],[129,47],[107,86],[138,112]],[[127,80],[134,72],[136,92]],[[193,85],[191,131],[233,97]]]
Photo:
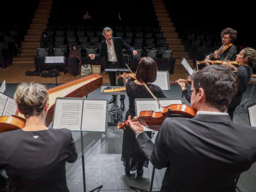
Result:
[[[256,128],[228,115],[165,119],[155,144],[137,143],[157,169],[167,167],[161,191],[235,192],[234,180],[256,161]],[[165,189],[165,190],[164,190]]]

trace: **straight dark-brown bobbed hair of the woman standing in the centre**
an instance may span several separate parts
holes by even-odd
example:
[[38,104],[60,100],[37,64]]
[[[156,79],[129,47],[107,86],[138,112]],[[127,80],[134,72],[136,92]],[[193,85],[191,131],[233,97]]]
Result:
[[157,63],[151,57],[143,57],[137,67],[136,78],[144,83],[153,83],[157,79]]

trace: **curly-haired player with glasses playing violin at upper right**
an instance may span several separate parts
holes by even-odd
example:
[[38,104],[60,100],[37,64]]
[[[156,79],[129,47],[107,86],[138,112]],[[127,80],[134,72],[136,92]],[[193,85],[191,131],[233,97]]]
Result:
[[225,51],[221,52],[219,54],[219,58],[214,59],[214,56],[217,55],[217,50],[214,51],[214,53],[207,55],[206,60],[228,60],[228,61],[235,61],[236,60],[236,46],[234,46],[232,43],[237,37],[237,31],[232,28],[226,28],[223,31],[221,31],[220,37],[222,39],[222,45],[231,45],[229,48],[227,48]]

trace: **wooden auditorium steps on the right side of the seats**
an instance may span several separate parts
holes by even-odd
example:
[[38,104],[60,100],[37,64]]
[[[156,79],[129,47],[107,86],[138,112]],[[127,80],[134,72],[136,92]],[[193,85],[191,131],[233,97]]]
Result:
[[169,44],[169,50],[173,50],[172,57],[176,59],[176,64],[181,64],[181,59],[184,57],[190,65],[194,65],[193,60],[189,59],[188,52],[185,51],[185,46],[182,45],[181,39],[178,38],[178,33],[175,27],[173,27],[163,0],[152,0],[152,3],[155,8],[157,20],[159,21],[159,26],[161,27],[161,32],[163,32],[163,37],[165,38],[165,43]]

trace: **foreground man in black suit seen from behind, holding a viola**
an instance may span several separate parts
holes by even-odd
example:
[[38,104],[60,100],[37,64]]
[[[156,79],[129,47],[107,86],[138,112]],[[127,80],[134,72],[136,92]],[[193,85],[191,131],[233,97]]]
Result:
[[235,192],[235,179],[256,161],[256,128],[234,124],[226,113],[235,75],[212,65],[192,77],[192,119],[168,117],[152,143],[137,121],[128,121],[146,157],[167,167],[161,192]]

